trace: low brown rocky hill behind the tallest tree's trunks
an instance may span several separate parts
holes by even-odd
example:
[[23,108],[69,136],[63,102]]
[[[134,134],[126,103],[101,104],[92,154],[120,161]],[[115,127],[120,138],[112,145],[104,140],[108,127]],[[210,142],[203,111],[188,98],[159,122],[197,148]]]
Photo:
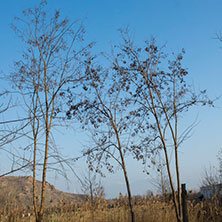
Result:
[[[41,182],[36,181],[37,195],[40,196]],[[17,205],[27,208],[32,206],[32,177],[31,176],[6,176],[0,178],[0,208],[6,205]],[[48,182],[46,183],[46,206],[57,205],[61,200],[80,201],[86,200],[86,195],[65,193],[56,190]],[[22,206],[21,206],[22,205]]]

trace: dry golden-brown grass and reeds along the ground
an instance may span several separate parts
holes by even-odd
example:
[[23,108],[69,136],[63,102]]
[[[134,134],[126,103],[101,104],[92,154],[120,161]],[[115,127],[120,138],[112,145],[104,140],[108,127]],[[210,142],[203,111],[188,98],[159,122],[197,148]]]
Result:
[[[134,211],[136,222],[176,221],[172,202],[164,202],[157,198],[140,198],[139,200],[134,200]],[[34,221],[34,217],[27,216],[27,213],[11,204],[1,209],[0,221]],[[188,201],[188,213],[190,222],[221,222],[221,200],[214,198],[211,201],[201,202],[195,206],[191,201]],[[71,203],[69,205],[61,202],[59,206],[46,210],[45,221],[129,222],[129,215],[125,199],[115,199],[112,201],[98,200],[94,204],[91,204],[90,201]]]

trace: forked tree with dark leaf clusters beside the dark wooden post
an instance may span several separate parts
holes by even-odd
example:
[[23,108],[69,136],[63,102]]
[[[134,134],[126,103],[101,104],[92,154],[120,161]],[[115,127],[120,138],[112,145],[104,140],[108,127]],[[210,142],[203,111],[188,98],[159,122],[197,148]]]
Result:
[[[129,86],[128,92],[141,108],[141,116],[146,118],[147,133],[152,131],[156,147],[164,151],[176,218],[181,222],[178,152],[189,129],[180,134],[179,119],[191,106],[212,102],[200,99],[199,96],[204,95],[205,91],[195,94],[188,86],[188,72],[182,67],[184,50],[168,61],[163,47],[158,47],[154,39],[146,41],[144,48],[139,48],[131,40],[129,32],[122,32],[122,36],[123,44],[117,46],[113,53],[113,69],[125,80]],[[171,151],[174,153],[174,165],[170,164]],[[173,183],[173,172],[176,187]]]

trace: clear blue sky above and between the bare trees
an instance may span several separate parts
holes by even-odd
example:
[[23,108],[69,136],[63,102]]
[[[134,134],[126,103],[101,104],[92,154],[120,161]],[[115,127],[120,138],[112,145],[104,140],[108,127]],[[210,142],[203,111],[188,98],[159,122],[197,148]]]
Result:
[[[11,70],[13,61],[22,51],[10,23],[23,9],[38,2],[1,0],[0,70],[5,73]],[[221,0],[49,0],[48,6],[50,10],[60,9],[70,20],[85,18],[86,40],[97,42],[98,51],[109,50],[112,43],[118,43],[117,30],[126,26],[134,33],[138,45],[152,35],[160,44],[167,43],[169,52],[185,48],[184,63],[194,87],[207,89],[212,98],[222,94],[222,44],[215,39],[216,34],[222,32]],[[220,99],[216,108],[193,109],[183,120],[184,125],[196,118],[199,121],[180,153],[182,182],[187,183],[188,188],[198,188],[204,166],[217,164],[216,153],[222,145],[221,107]],[[75,154],[73,143],[77,143],[76,139],[69,138],[64,144],[61,142],[64,137],[68,138],[68,135],[58,136],[58,144],[67,155]],[[80,147],[80,144],[78,141],[76,146]],[[150,178],[138,174],[139,164],[129,160],[128,167],[134,194],[143,194],[151,188]],[[54,183],[53,180],[50,182]],[[104,184],[108,197],[118,195],[119,191],[125,193],[121,172],[107,175]],[[56,181],[56,186],[67,190],[62,180]],[[78,187],[72,189],[80,191]]]

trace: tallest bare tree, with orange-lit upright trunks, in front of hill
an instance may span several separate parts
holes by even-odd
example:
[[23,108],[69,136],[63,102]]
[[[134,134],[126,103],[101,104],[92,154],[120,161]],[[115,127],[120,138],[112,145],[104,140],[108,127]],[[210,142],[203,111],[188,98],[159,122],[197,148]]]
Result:
[[[61,19],[59,11],[49,17],[46,5],[43,0],[38,7],[24,10],[22,17],[15,18],[12,28],[25,50],[9,76],[22,98],[22,113],[31,122],[31,134],[27,136],[33,141],[30,144],[33,146],[33,204],[38,222],[43,221],[48,160],[56,157],[55,147],[50,147],[53,128],[61,126],[64,119],[65,96],[72,94],[83,79],[81,58],[87,56],[90,47],[81,46],[84,33],[81,23]],[[42,166],[40,203],[37,203],[35,186],[37,163]]]

